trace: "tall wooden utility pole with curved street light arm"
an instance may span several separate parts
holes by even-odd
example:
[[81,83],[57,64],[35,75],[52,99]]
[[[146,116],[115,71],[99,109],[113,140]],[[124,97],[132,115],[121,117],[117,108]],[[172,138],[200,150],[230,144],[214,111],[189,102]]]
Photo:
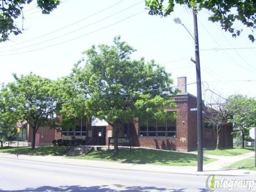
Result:
[[201,70],[199,59],[199,43],[198,43],[198,29],[197,29],[197,15],[193,11],[194,17],[194,35],[189,32],[180,18],[174,18],[174,22],[182,25],[195,41],[195,57],[196,61],[191,59],[196,64],[196,90],[197,90],[197,171],[203,171],[203,121],[202,121],[202,88],[201,88]]

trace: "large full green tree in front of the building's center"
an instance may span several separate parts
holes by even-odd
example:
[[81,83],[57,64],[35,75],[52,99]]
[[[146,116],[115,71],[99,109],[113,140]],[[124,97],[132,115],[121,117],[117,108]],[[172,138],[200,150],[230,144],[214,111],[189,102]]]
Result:
[[113,127],[116,155],[123,123],[133,122],[134,117],[173,116],[166,111],[174,107],[167,95],[173,91],[164,89],[172,84],[170,74],[154,61],[131,60],[134,51],[120,37],[115,37],[114,45],[92,46],[85,51],[86,60],[78,61],[70,76],[78,96],[67,105],[76,106],[83,101],[84,115],[105,119]]

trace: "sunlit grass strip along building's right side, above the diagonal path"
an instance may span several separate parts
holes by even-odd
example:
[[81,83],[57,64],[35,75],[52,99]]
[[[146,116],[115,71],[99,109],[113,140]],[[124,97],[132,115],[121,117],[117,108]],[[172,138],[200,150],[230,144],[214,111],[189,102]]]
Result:
[[229,148],[229,149],[207,149],[204,154],[220,156],[236,156],[254,151],[253,148]]

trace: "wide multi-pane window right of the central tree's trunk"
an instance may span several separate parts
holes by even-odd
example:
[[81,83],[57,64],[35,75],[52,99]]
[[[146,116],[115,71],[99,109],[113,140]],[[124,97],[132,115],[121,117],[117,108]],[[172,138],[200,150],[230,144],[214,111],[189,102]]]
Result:
[[176,137],[176,120],[166,119],[165,121],[159,121],[157,119],[150,119],[149,121],[143,121],[140,119],[140,137]]

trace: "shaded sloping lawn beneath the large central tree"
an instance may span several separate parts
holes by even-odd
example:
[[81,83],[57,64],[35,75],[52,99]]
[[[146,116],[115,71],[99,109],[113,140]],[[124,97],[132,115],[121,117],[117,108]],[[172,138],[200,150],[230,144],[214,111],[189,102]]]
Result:
[[[119,155],[114,156],[113,150],[100,149],[92,151],[92,153],[84,156],[74,156],[69,158],[76,159],[90,159],[100,161],[117,161],[122,163],[136,163],[136,164],[156,164],[169,166],[196,166],[197,155],[187,153],[177,153],[173,151],[161,151],[153,149],[130,149],[119,148]],[[215,161],[215,159],[204,158],[204,164]]]

